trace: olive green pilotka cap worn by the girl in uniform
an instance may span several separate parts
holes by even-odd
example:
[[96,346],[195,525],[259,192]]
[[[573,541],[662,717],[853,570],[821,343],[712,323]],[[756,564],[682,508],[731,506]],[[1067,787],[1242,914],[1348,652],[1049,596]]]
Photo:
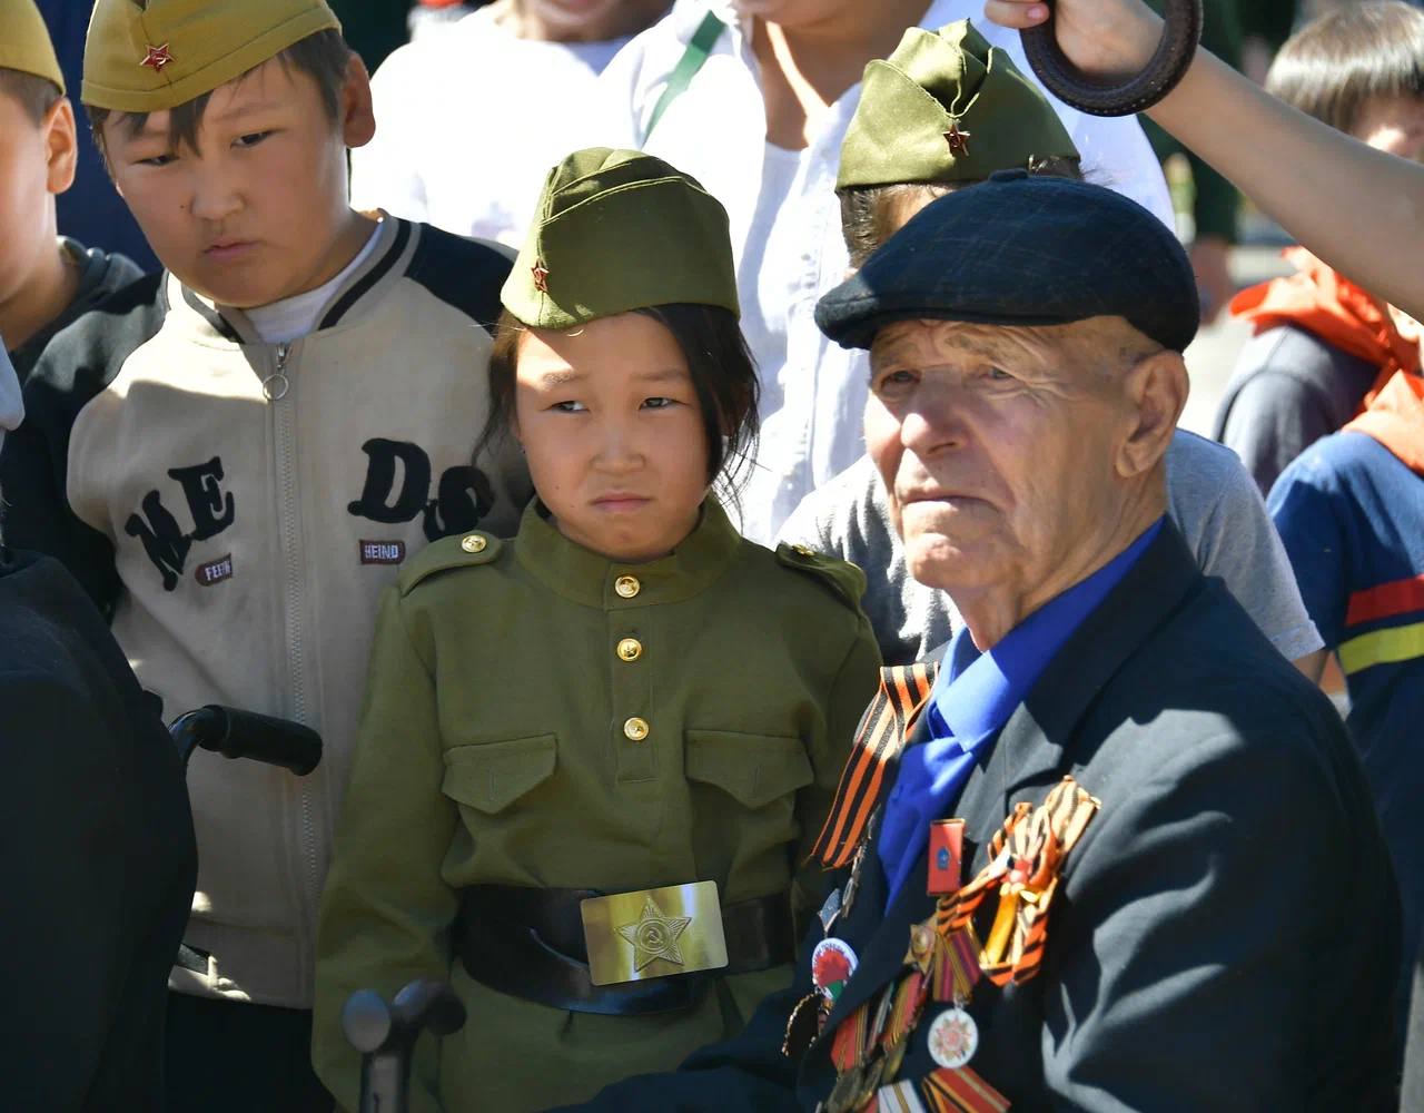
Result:
[[591,147],[554,167],[501,301],[528,328],[692,302],[738,314],[726,209],[639,151]]

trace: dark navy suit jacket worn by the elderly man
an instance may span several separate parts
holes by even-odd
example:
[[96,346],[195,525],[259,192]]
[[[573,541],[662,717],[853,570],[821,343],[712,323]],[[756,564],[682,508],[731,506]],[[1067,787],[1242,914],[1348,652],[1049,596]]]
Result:
[[[973,844],[967,878],[1012,805],[1041,804],[1065,775],[1102,808],[1068,855],[1038,976],[974,992],[973,1070],[1015,1112],[1393,1109],[1398,901],[1358,762],[1330,703],[1171,524],[948,812]],[[815,1109],[836,1080],[833,1033],[901,975],[909,928],[934,909],[917,882],[884,901],[871,849],[834,926],[860,965],[799,1060],[780,1047],[810,992],[807,955],[735,1042],[592,1107]],[[900,1079],[936,1069],[926,1033],[944,1008],[926,1006]]]

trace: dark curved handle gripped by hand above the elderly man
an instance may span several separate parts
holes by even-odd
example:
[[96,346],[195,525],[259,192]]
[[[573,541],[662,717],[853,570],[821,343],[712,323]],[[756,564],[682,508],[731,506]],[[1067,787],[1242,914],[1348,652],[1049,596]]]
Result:
[[1156,51],[1142,73],[1116,83],[1088,77],[1068,61],[1054,33],[1052,4],[1048,19],[1021,36],[1028,64],[1044,88],[1064,104],[1089,115],[1132,115],[1176,88],[1202,40],[1202,0],[1165,0],[1165,26]]

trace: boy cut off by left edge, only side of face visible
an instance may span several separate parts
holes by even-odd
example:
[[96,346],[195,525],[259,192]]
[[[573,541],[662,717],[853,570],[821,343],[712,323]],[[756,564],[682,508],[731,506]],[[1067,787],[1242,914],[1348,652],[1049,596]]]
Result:
[[0,0],[0,336],[20,382],[44,345],[140,276],[122,255],[56,229],[74,182],[74,108],[34,0]]

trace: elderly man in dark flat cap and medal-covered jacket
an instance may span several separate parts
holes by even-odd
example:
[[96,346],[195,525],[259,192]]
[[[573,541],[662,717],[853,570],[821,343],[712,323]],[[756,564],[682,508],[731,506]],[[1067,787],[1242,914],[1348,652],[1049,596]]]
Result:
[[886,670],[793,986],[597,1107],[1388,1107],[1398,904],[1358,765],[1163,516],[1175,238],[997,174],[817,319],[870,349],[910,569],[967,626]]

